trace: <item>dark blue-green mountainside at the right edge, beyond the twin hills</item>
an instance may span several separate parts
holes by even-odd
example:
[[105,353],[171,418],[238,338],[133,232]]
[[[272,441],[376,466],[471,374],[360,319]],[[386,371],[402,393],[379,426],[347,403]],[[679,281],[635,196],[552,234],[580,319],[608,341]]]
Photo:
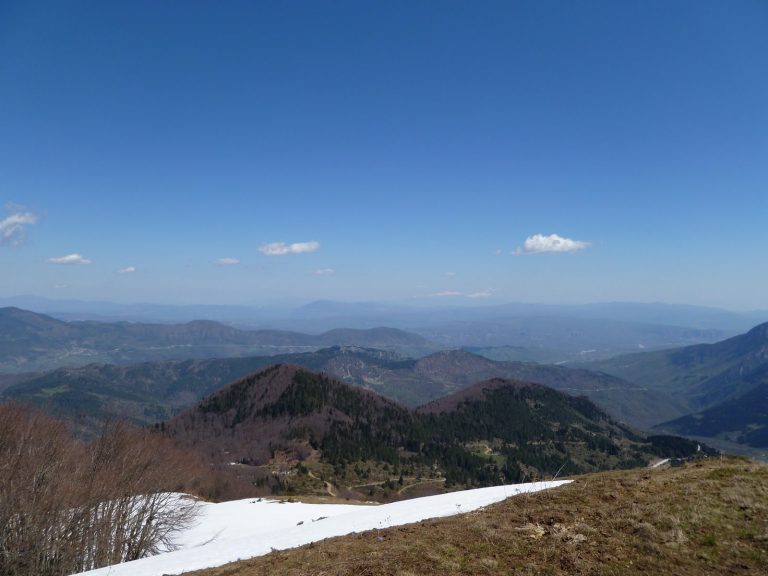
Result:
[[587,366],[674,398],[687,414],[660,414],[661,430],[768,448],[768,323],[715,344]]

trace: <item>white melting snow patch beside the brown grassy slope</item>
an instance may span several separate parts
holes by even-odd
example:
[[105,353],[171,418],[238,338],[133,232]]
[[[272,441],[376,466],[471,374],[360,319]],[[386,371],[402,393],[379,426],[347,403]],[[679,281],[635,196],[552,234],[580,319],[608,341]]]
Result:
[[538,492],[568,482],[493,486],[378,506],[297,502],[278,505],[274,500],[253,498],[203,504],[197,525],[177,539],[177,550],[81,574],[162,576],[213,568],[334,536],[471,512],[510,496]]

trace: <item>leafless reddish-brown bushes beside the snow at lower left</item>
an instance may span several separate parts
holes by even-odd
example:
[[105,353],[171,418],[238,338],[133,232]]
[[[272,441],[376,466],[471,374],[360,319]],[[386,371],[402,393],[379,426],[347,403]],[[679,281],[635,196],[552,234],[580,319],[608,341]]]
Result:
[[125,424],[88,444],[39,412],[0,405],[0,574],[56,576],[172,549],[194,518],[200,470],[169,440]]

